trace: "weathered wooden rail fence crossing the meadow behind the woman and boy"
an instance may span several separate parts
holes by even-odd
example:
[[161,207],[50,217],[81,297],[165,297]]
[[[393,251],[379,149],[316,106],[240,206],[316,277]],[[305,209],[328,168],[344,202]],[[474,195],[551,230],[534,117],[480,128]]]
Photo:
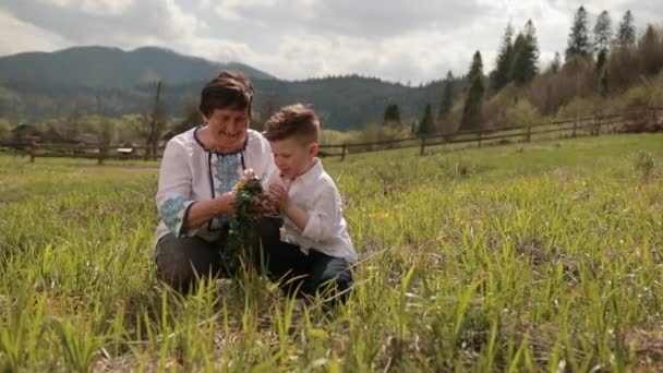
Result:
[[[616,132],[620,127],[639,121],[660,121],[663,108],[648,108],[624,115],[593,116],[575,118],[571,120],[551,121],[533,123],[521,127],[506,127],[491,130],[459,131],[453,134],[435,134],[429,136],[397,139],[372,143],[346,143],[337,145],[321,145],[320,156],[340,157],[343,160],[348,155],[388,149],[419,147],[419,154],[425,154],[426,147],[438,145],[477,144],[478,147],[485,145],[505,144],[514,142],[531,142],[532,140],[576,137],[582,135],[598,136],[600,134]],[[31,160],[36,157],[73,157],[93,158],[98,164],[106,159],[159,159],[164,147],[157,148],[156,154],[150,154],[145,146],[124,148],[121,146],[98,145],[65,145],[65,144],[38,144],[31,143],[7,143],[0,144],[0,152],[14,152],[15,154],[27,154]]]

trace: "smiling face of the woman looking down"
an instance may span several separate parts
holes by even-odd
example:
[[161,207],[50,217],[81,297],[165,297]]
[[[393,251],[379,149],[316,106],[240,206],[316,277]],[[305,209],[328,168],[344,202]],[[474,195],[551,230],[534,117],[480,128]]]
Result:
[[249,109],[214,109],[205,117],[209,134],[216,143],[228,149],[238,149],[244,145],[249,129]]

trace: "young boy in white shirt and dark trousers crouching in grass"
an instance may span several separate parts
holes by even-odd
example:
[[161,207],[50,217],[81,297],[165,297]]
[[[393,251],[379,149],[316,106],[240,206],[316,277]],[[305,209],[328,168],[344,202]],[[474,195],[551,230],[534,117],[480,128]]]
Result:
[[284,227],[280,234],[274,226],[272,233],[263,229],[263,248],[270,278],[289,293],[330,291],[324,297],[345,301],[357,253],[340,194],[316,157],[318,128],[315,112],[301,104],[281,108],[265,123],[277,167],[267,179],[267,197]]

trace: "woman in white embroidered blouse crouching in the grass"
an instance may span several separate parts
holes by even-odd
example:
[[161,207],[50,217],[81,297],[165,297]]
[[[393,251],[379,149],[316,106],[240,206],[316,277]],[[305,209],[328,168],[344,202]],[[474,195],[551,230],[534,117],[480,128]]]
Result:
[[233,186],[252,169],[266,180],[274,168],[268,142],[249,129],[253,86],[221,72],[201,93],[204,124],[171,139],[159,170],[154,258],[157,276],[186,291],[196,276],[224,269],[220,248],[234,207]]

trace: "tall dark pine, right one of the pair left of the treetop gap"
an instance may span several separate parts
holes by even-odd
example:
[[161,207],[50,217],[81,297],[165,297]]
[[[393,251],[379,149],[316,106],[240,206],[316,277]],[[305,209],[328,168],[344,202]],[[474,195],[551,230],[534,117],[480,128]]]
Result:
[[511,80],[521,86],[529,83],[539,73],[539,43],[537,29],[532,21],[528,21],[522,33],[519,33],[514,43],[514,63],[511,65]]

